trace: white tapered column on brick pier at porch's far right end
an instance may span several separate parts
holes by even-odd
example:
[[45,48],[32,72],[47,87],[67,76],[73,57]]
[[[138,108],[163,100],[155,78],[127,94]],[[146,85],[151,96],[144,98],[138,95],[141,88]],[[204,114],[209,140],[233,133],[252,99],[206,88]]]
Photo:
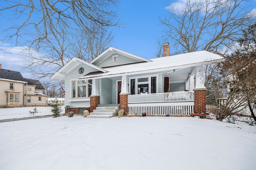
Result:
[[204,87],[203,66],[196,67],[196,86],[194,95],[194,112],[206,113],[206,88]]

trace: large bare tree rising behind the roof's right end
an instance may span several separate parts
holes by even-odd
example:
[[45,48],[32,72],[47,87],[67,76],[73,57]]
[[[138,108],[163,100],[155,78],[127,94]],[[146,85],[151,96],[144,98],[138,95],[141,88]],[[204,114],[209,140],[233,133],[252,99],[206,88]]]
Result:
[[173,54],[206,50],[222,55],[256,21],[250,6],[244,0],[186,0],[167,7],[168,15],[159,20]]

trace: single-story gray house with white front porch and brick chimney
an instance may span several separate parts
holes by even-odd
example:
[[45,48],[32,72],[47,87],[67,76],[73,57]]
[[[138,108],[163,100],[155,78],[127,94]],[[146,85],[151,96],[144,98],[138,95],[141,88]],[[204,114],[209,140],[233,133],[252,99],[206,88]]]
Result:
[[164,57],[155,59],[109,47],[90,63],[74,57],[51,79],[65,83],[66,111],[74,113],[96,106],[120,106],[131,115],[205,113],[202,66],[222,57],[207,51],[169,54],[169,43]]

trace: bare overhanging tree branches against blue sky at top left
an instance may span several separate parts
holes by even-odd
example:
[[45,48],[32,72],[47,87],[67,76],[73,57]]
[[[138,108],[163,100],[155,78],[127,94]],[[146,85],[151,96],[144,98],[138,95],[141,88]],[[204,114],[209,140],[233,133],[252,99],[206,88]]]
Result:
[[10,14],[5,17],[10,21],[3,30],[5,39],[15,38],[16,44],[21,44],[23,35],[27,38],[31,32],[40,29],[40,34],[33,35],[27,44],[30,48],[38,48],[52,30],[61,34],[63,25],[70,30],[82,28],[86,32],[92,32],[90,21],[99,26],[115,26],[119,24],[116,3],[116,0],[6,0],[0,5],[2,17]]

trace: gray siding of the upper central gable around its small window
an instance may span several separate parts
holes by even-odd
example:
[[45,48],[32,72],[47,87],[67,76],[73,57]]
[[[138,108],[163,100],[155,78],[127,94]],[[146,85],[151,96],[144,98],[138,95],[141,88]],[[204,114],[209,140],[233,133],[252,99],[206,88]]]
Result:
[[[117,54],[113,54],[113,55],[117,55]],[[121,65],[121,64],[131,64],[131,63],[138,63],[139,62],[135,59],[131,59],[129,57],[125,57],[125,56],[120,55],[120,54],[118,55],[118,60],[113,61],[113,58],[112,58],[113,55],[108,57],[102,63],[98,64],[98,66],[99,67],[107,67],[107,66],[117,66],[117,65]]]

